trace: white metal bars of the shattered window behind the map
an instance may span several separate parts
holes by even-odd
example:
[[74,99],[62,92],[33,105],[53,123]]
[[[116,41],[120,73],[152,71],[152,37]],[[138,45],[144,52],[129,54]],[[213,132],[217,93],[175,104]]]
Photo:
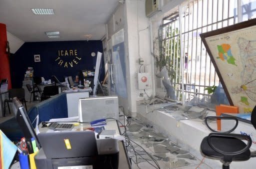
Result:
[[[182,78],[185,101],[194,96],[208,96],[204,89],[218,85],[219,79],[199,34],[234,24],[237,17],[236,4],[236,0],[193,0],[181,7],[181,16],[176,11],[163,19],[162,52],[168,60],[170,79],[179,100]],[[183,49],[183,76],[180,70],[180,47]]]

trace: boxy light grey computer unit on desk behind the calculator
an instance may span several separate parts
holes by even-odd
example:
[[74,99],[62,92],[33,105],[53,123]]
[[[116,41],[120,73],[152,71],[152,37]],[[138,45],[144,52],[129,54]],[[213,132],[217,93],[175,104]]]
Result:
[[79,99],[78,112],[80,122],[114,118],[119,120],[117,96],[102,96]]

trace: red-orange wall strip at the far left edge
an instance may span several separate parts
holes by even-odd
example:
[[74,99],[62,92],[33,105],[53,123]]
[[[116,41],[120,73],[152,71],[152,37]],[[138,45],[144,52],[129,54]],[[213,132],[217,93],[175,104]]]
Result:
[[8,79],[8,89],[11,88],[9,59],[6,53],[6,25],[0,23],[0,79]]

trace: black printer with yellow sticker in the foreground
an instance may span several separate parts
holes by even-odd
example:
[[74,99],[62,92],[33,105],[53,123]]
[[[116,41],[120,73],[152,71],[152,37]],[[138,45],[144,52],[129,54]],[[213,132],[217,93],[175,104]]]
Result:
[[119,147],[114,139],[96,139],[94,132],[52,132],[37,135],[42,149],[37,169],[118,169]]

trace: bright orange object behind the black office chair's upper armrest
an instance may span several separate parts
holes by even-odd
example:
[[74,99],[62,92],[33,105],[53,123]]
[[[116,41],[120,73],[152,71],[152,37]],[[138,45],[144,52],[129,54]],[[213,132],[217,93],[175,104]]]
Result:
[[[216,106],[216,116],[220,116],[222,113],[239,113],[239,108],[237,106],[228,106],[223,104]],[[221,130],[220,119],[217,119],[217,130]]]

